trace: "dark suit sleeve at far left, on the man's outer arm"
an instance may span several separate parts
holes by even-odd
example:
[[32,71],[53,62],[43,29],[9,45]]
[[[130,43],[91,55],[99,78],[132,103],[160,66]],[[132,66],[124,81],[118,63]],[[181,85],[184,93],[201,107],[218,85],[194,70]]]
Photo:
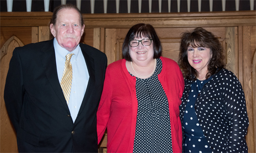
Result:
[[22,64],[20,61],[18,48],[15,48],[7,73],[4,99],[8,115],[16,132],[19,126],[19,118],[20,112],[22,111],[24,93]]

